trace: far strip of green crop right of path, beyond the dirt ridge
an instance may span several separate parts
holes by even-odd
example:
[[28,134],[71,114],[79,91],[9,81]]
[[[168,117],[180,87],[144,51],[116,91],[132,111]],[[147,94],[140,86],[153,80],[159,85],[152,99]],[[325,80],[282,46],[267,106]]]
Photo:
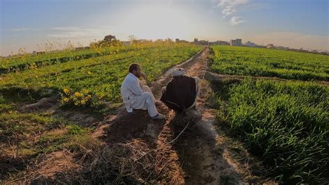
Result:
[[329,56],[253,47],[212,49],[211,69],[221,74],[329,81]]

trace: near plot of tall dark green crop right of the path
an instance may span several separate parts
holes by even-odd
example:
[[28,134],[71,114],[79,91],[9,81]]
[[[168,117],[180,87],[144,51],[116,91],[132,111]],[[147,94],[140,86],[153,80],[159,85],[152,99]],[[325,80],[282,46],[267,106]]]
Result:
[[285,183],[328,184],[328,87],[248,78],[228,95],[220,117],[273,177]]

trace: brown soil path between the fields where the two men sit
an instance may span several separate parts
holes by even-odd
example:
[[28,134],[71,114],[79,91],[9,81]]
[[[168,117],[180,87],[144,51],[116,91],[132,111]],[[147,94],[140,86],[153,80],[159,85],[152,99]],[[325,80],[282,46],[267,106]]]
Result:
[[[221,136],[214,128],[216,122],[214,110],[208,105],[212,91],[208,81],[204,80],[210,49],[207,47],[185,63],[187,75],[201,79],[201,93],[196,106],[197,111],[187,115],[176,115],[164,104],[157,106],[158,111],[166,115],[166,120],[152,120],[147,111],[134,110],[126,113],[121,106],[116,115],[110,115],[94,131],[94,136],[103,138],[108,145],[139,138],[155,149],[156,158],[165,158],[169,170],[165,181],[172,184],[241,184],[245,181],[245,169],[230,156]],[[160,98],[160,89],[171,79],[171,70],[160,79],[151,83],[156,99]],[[189,125],[187,125],[189,124]],[[181,132],[186,127],[184,132]],[[175,138],[180,134],[179,138]]]

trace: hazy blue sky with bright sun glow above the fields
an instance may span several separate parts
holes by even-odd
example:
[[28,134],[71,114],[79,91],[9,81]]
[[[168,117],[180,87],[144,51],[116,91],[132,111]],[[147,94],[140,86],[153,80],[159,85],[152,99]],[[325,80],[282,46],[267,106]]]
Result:
[[[47,42],[241,38],[329,51],[329,0],[0,0],[0,55]],[[62,44],[58,44],[62,43]]]

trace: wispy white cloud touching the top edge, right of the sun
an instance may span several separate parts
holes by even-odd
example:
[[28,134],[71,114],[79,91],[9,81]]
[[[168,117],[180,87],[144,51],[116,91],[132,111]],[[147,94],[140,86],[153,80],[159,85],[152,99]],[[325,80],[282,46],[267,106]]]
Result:
[[249,0],[219,0],[217,7],[221,8],[224,17],[233,15],[237,11],[238,6],[248,3]]

